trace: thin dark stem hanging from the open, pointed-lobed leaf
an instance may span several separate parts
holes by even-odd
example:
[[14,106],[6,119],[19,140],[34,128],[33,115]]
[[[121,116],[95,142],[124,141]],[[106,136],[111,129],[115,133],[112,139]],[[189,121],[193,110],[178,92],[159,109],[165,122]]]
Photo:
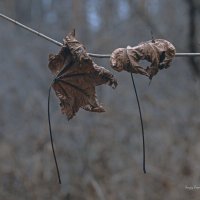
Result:
[[48,122],[49,122],[49,134],[50,134],[50,139],[51,139],[51,147],[52,147],[53,157],[54,157],[54,161],[55,161],[55,165],[56,165],[56,171],[57,171],[57,175],[58,175],[58,181],[59,181],[59,183],[61,184],[60,171],[59,171],[59,168],[58,168],[58,163],[57,163],[56,154],[55,154],[55,150],[54,150],[53,136],[52,136],[52,130],[51,130],[50,96],[51,96],[51,85],[50,85],[50,87],[49,87],[49,93],[48,93]]

